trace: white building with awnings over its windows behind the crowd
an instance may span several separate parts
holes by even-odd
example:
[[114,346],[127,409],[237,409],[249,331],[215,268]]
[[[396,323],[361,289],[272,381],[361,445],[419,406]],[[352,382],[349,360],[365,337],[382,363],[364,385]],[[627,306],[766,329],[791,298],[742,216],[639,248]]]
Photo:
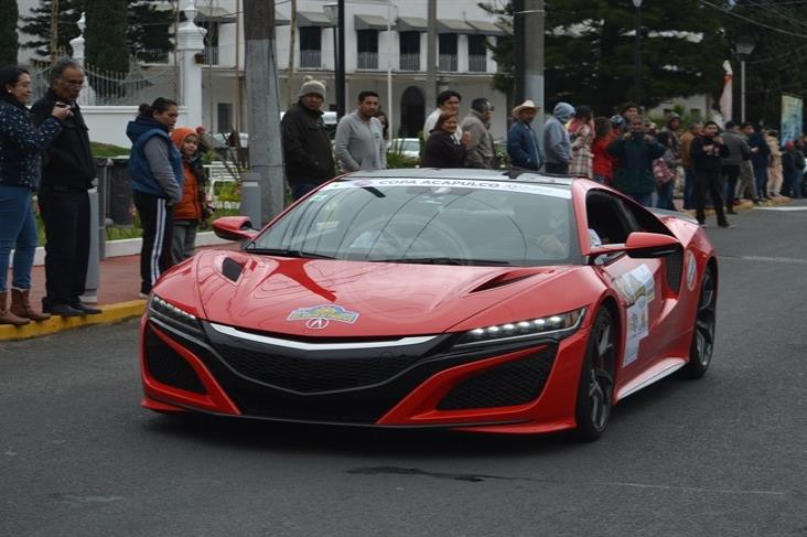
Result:
[[[183,2],[179,2],[182,4]],[[327,87],[324,108],[334,110],[334,20],[326,2],[298,0],[293,47],[294,73],[289,83],[291,43],[291,2],[276,2],[276,61],[281,109],[297,100],[304,76],[322,79]],[[335,2],[332,2],[335,4]],[[26,14],[37,0],[20,0]],[[164,1],[165,9],[177,9],[176,1]],[[213,131],[247,129],[244,2],[241,0],[196,0],[196,24],[207,30],[203,64],[203,122]],[[335,10],[334,10],[335,11]],[[333,15],[331,15],[333,17]],[[427,0],[345,1],[345,106],[353,108],[361,90],[375,90],[383,109],[391,112],[396,131],[416,136],[434,103],[426,103]],[[387,25],[391,31],[387,31]],[[501,35],[495,19],[473,0],[438,2],[438,87],[455,89],[463,96],[461,115],[471,100],[488,98],[494,107],[493,133],[503,138],[508,111],[505,96],[492,87],[496,63],[485,42]],[[23,36],[24,41],[24,36]],[[21,63],[30,51],[21,50]],[[174,57],[170,55],[169,62]],[[154,66],[159,69],[159,66]],[[387,92],[391,72],[391,96]],[[154,88],[150,93],[153,94]],[[166,95],[174,95],[175,85]],[[129,103],[136,105],[137,103]]]

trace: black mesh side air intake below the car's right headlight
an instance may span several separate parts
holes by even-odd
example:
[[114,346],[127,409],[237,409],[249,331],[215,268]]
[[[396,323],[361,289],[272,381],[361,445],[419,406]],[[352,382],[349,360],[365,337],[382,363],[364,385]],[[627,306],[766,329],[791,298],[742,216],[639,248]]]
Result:
[[540,396],[555,363],[553,346],[508,362],[456,385],[438,404],[439,410],[512,407]]

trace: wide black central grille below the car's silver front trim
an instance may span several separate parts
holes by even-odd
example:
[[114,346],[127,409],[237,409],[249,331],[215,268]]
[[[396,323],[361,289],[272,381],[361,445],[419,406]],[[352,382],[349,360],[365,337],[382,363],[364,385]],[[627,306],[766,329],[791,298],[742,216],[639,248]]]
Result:
[[303,394],[335,391],[383,383],[409,368],[418,356],[333,358],[283,356],[228,345],[216,351],[243,376]]

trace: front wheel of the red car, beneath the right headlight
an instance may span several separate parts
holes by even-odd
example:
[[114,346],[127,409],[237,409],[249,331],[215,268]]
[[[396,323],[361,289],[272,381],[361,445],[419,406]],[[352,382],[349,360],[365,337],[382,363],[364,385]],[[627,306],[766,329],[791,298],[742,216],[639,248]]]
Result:
[[616,325],[611,312],[596,313],[580,370],[575,419],[577,438],[583,442],[599,439],[607,427],[614,394]]

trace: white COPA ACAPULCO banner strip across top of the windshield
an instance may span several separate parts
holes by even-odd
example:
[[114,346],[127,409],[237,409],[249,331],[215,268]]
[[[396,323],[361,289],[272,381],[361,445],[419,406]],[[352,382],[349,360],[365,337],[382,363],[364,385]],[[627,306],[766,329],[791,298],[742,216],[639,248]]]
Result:
[[551,186],[539,184],[507,181],[477,181],[473,179],[356,179],[353,181],[337,181],[330,183],[325,185],[322,191],[379,186],[433,186],[444,189],[491,190],[499,192],[523,192],[525,194],[540,194],[545,196],[571,200],[571,191],[567,189],[553,189]]

